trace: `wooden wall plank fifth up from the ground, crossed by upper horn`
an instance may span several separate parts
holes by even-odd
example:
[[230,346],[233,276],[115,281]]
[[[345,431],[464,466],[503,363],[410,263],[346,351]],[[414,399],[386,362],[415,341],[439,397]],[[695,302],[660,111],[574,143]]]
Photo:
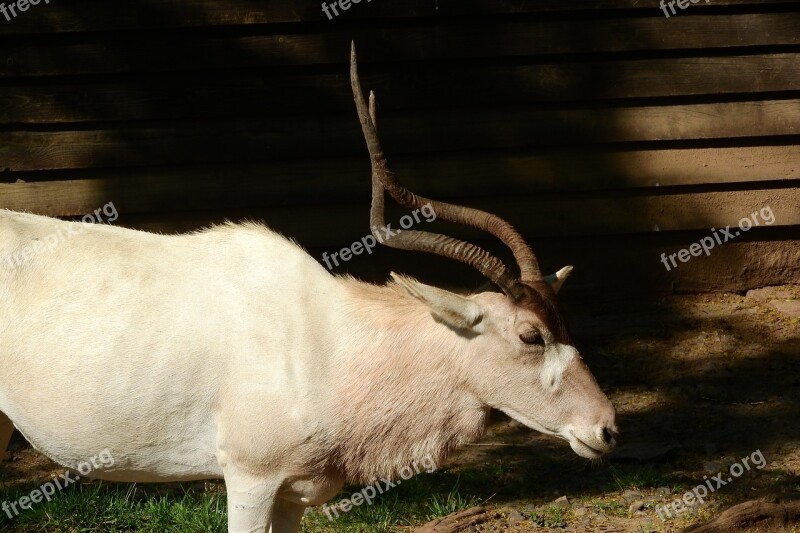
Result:
[[[800,89],[800,54],[367,73],[385,111]],[[752,97],[752,96],[751,96]],[[0,124],[352,113],[344,74],[165,75],[0,86]]]

